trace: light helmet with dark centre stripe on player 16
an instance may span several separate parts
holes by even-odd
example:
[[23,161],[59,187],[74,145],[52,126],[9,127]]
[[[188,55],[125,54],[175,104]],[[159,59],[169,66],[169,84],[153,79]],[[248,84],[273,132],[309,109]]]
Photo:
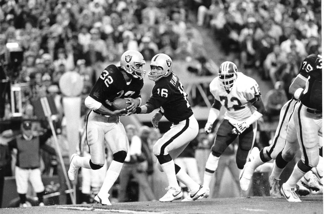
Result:
[[[166,77],[171,74],[172,71],[172,59],[167,54],[156,54],[151,60],[151,72],[148,73],[148,78],[153,81],[157,81],[162,77]],[[159,74],[152,73],[152,66],[162,68]]]

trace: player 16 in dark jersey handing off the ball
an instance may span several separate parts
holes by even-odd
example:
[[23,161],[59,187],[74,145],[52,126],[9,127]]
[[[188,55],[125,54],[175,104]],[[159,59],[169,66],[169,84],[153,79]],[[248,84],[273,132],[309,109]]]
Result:
[[157,158],[157,167],[168,178],[168,192],[159,199],[161,202],[173,201],[183,193],[177,179],[185,184],[191,192],[183,201],[193,201],[203,196],[202,185],[194,182],[189,175],[174,164],[174,159],[187,147],[198,134],[198,122],[193,116],[191,106],[179,77],[172,71],[172,60],[166,54],[156,54],[151,61],[149,79],[155,81],[152,96],[145,105],[137,107],[132,113],[151,113],[160,108],[152,118],[154,128],[164,115],[172,126],[154,145],[153,153]]

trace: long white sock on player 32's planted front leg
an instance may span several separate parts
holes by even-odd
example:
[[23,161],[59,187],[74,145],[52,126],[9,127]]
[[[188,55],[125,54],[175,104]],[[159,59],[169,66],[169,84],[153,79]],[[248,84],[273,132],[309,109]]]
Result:
[[121,172],[122,163],[118,161],[111,161],[109,169],[106,172],[105,180],[100,188],[98,194],[100,195],[107,195],[108,191],[114,185],[115,181],[117,180],[119,173]]

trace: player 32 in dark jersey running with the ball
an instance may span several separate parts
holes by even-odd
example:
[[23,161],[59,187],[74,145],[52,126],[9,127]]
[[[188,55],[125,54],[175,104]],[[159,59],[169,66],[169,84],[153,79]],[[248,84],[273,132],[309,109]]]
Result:
[[113,110],[111,102],[117,98],[127,98],[132,111],[141,103],[140,90],[143,87],[142,69],[144,58],[138,51],[128,50],[121,55],[120,66],[109,65],[98,78],[97,82],[85,100],[85,105],[91,109],[86,118],[87,143],[90,157],[71,157],[68,176],[75,180],[80,167],[97,170],[105,163],[104,142],[109,144],[113,161],[106,173],[106,178],[95,200],[102,205],[111,205],[108,191],[115,183],[127,155],[127,136],[119,116],[125,115],[126,109]]

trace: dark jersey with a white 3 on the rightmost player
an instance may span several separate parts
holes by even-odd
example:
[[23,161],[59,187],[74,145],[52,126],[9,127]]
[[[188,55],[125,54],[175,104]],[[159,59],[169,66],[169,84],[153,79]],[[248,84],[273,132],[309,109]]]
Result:
[[308,108],[322,110],[322,58],[318,58],[315,69],[310,71],[300,101]]

